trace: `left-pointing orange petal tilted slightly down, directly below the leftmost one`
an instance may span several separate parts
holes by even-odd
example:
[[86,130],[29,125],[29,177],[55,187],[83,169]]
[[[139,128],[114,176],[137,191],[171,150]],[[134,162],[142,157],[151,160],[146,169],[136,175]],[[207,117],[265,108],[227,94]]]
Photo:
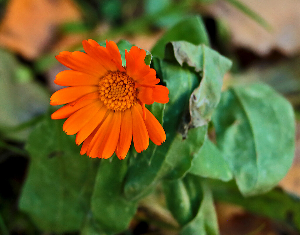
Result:
[[[98,100],[98,99],[97,99]],[[56,110],[54,113],[51,114],[52,119],[63,119],[70,117],[71,114],[76,112],[78,109],[81,109],[82,107],[94,103],[97,101],[96,99],[93,100],[82,100],[80,102],[72,102],[69,104],[66,104],[65,106],[61,107],[60,109]]]

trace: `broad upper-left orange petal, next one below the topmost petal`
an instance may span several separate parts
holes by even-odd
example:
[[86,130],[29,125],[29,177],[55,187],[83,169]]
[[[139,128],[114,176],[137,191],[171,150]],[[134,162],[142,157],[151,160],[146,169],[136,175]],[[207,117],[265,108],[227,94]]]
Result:
[[94,58],[84,52],[60,52],[55,58],[64,66],[93,76],[104,76],[107,70]]

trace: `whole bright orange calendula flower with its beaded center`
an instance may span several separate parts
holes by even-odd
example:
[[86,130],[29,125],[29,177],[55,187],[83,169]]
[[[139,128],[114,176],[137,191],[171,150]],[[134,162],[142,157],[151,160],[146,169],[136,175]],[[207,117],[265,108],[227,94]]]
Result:
[[76,134],[80,154],[107,159],[116,152],[124,159],[133,139],[138,153],[146,150],[149,138],[161,145],[164,129],[145,104],[167,103],[169,90],[157,85],[160,79],[146,65],[146,52],[137,46],[125,50],[126,66],[113,41],[106,47],[83,40],[84,52],[60,52],[56,59],[71,70],[56,75],[54,82],[68,86],[56,91],[51,105],[66,104],[52,119],[67,118],[63,130]]

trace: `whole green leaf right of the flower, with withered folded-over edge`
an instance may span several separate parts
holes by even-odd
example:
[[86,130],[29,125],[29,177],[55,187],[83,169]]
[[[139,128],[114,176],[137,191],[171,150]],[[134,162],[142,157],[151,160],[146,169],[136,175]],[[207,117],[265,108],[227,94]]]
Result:
[[[150,144],[145,153],[137,154],[136,158],[131,161],[125,183],[125,195],[128,198],[141,196],[141,192],[149,189],[155,181],[161,178],[174,179],[185,174],[191,165],[194,154],[199,151],[204,141],[207,120],[210,119],[211,113],[219,102],[223,75],[231,65],[228,59],[208,47],[194,46],[187,42],[169,44],[166,48],[166,59],[176,62],[177,65],[155,58],[152,66],[170,91],[170,101],[165,105],[163,120],[167,139],[162,146]],[[196,73],[185,66],[179,67],[187,61],[190,62],[190,66],[195,68]],[[196,85],[199,84],[201,70],[203,70],[201,73],[203,78],[200,86],[196,88]],[[195,88],[196,90],[194,90]],[[198,123],[195,121],[193,126],[202,127],[190,130],[187,139],[182,140],[182,134],[176,132],[182,121],[182,114],[187,111],[187,103],[192,91],[194,91],[193,97],[202,100],[202,104],[199,100],[196,103],[199,105],[192,109],[197,109],[193,111],[192,120],[195,119],[193,118],[195,113],[200,110],[201,114],[205,115],[203,119],[206,123],[202,122],[200,125],[198,118]],[[194,103],[192,101],[192,104]],[[187,123],[184,123],[183,126],[187,130]],[[183,134],[186,135],[186,132]],[[140,172],[143,172],[142,176]]]

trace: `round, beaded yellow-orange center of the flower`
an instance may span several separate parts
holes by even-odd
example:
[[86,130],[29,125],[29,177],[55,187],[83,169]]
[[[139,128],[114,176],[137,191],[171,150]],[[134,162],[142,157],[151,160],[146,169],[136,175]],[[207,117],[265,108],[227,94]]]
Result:
[[132,78],[124,72],[110,72],[99,82],[99,99],[108,109],[122,110],[137,102]]

